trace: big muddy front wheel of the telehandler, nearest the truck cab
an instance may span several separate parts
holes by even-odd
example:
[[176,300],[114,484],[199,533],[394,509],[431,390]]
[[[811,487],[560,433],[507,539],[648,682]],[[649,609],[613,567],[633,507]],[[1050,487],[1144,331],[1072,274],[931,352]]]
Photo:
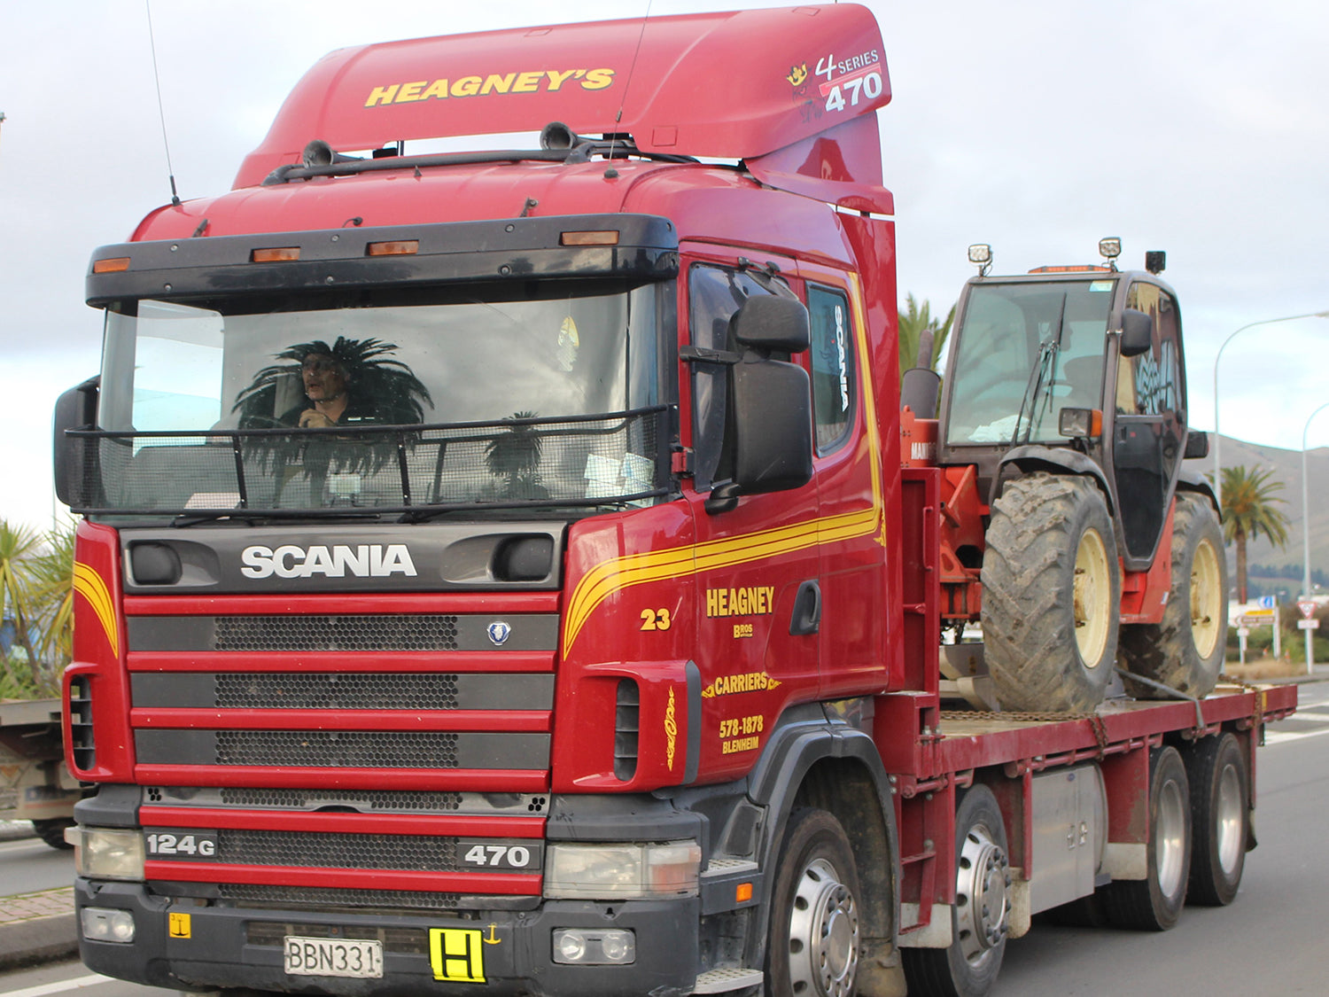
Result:
[[1086,477],[1043,472],[993,502],[983,655],[1003,710],[1092,710],[1116,661],[1122,574],[1112,520]]

